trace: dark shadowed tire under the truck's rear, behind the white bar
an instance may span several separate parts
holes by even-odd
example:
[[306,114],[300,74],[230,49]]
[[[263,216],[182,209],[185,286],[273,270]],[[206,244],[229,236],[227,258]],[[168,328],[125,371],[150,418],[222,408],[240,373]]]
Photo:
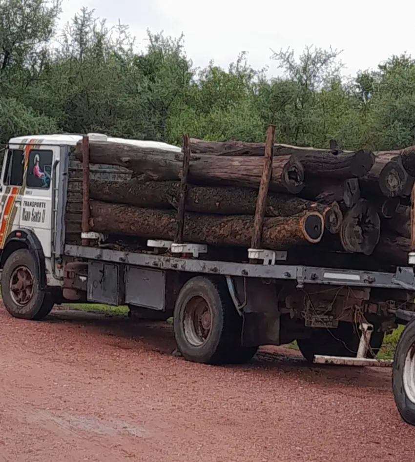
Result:
[[[371,349],[367,358],[374,358],[383,343],[384,332],[374,330],[371,336]],[[340,322],[337,329],[314,328],[311,337],[297,339],[297,345],[304,358],[312,363],[314,355],[342,356],[353,358],[357,354],[360,338],[352,323]]]

